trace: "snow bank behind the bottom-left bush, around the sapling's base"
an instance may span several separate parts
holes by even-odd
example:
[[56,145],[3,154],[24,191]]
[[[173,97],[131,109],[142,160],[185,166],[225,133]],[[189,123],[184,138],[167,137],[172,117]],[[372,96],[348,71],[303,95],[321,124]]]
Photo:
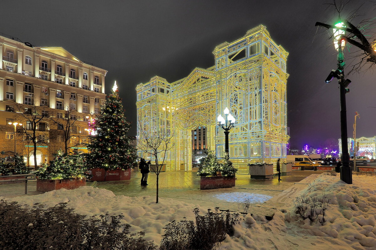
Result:
[[[93,188],[89,186],[79,187],[74,190],[60,189],[34,196],[18,196],[8,198],[8,201],[16,201],[20,204],[32,206],[35,203],[55,206],[60,202],[68,202],[68,208],[74,208],[76,213],[86,216],[94,214],[109,215],[123,213],[122,223],[128,223],[132,227],[131,233],[143,231],[144,239],[160,244],[164,227],[173,220],[183,220],[183,217],[193,220],[193,209],[199,205],[189,204],[173,199],[159,198],[155,203],[153,196],[128,197],[115,196],[109,190]],[[200,207],[200,212],[205,213],[206,208]]]

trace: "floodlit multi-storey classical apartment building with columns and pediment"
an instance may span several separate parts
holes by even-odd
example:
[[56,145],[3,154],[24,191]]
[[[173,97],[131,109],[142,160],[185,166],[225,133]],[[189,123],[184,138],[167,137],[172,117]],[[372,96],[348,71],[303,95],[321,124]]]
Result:
[[107,70],[79,60],[62,47],[36,47],[5,34],[0,36],[0,58],[1,151],[14,151],[16,144],[17,153],[33,165],[33,146],[23,133],[14,135],[14,125],[8,123],[22,123],[28,129],[30,124],[20,113],[30,114],[35,106],[58,121],[47,117],[38,124],[38,136],[45,141],[38,145],[38,164],[48,161],[56,150],[64,150],[62,126],[67,116],[74,120],[69,145],[85,151],[79,144],[87,139],[88,122],[105,102]]

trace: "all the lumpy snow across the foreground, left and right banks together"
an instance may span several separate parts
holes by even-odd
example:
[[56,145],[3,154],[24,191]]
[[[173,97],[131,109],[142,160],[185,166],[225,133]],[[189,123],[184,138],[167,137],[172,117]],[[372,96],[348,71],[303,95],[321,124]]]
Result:
[[[302,190],[303,196],[324,194],[331,200],[323,226],[312,224],[309,219],[298,220],[293,206],[277,211],[271,221],[264,216],[247,215],[241,225],[235,226],[235,235],[227,237],[220,249],[376,249],[376,177],[353,175],[353,184],[347,185],[338,176],[324,175]],[[202,213],[207,210],[207,207],[174,199],[160,198],[156,204],[153,196],[115,196],[109,190],[93,187],[8,200],[27,205],[40,202],[47,206],[69,201],[68,207],[87,216],[123,213],[123,222],[132,225],[132,232],[144,231],[145,239],[156,244],[160,243],[167,223],[183,217],[193,219],[195,207]]]

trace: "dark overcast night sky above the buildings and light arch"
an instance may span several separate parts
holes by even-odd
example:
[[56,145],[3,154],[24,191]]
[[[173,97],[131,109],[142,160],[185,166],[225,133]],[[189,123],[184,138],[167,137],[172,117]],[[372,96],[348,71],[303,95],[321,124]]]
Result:
[[[291,146],[320,145],[340,137],[338,84],[324,84],[336,67],[329,35],[315,36],[316,21],[333,22],[331,0],[270,1],[2,1],[0,32],[36,46],[62,46],[80,60],[109,71],[106,93],[118,81],[135,134],[135,86],[159,75],[169,82],[194,67],[214,64],[212,51],[264,24],[290,52],[287,62],[288,126]],[[363,1],[353,1],[355,9]],[[375,15],[370,1],[361,13]],[[346,11],[345,11],[346,12]],[[358,20],[358,19],[356,19]],[[356,21],[354,22],[356,24]],[[349,76],[348,131],[358,111],[358,136],[375,136],[376,84],[373,71]]]

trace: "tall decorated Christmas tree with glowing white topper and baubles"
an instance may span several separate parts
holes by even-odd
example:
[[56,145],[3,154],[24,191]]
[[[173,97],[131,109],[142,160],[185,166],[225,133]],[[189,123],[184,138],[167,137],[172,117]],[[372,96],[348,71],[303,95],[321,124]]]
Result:
[[96,133],[87,144],[86,163],[89,168],[125,170],[135,166],[137,156],[127,135],[130,123],[124,116],[116,82],[93,126]]

